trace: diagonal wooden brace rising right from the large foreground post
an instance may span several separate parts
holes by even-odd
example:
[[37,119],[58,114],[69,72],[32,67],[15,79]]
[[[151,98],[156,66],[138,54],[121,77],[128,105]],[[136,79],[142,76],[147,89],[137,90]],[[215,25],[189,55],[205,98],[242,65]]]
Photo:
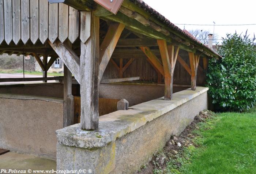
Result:
[[108,32],[99,48],[99,79],[103,76],[124,27],[124,24],[121,23],[111,23],[109,26]]

